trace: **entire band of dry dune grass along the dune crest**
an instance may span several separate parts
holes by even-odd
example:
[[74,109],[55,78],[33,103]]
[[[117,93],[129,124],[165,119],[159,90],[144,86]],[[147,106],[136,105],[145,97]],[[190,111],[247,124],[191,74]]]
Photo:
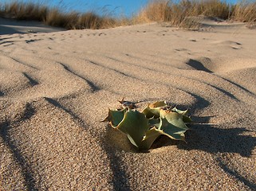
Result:
[[[18,20],[43,21],[45,25],[65,29],[105,29],[151,21],[164,21],[183,28],[199,27],[199,16],[230,21],[256,22],[256,2],[238,2],[235,5],[220,0],[149,1],[133,18],[99,16],[93,12],[79,14],[49,8],[40,3],[12,1],[0,5],[0,16]],[[201,17],[202,18],[202,17]]]

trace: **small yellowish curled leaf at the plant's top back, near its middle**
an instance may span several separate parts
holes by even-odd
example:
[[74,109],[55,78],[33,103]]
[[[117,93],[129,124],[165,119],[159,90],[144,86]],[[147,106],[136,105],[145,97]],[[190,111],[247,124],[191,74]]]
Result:
[[165,107],[167,104],[164,101],[159,101],[156,103],[148,104],[147,107],[144,108],[142,113],[146,115],[148,119],[151,118],[159,118],[160,117],[160,109],[161,107]]

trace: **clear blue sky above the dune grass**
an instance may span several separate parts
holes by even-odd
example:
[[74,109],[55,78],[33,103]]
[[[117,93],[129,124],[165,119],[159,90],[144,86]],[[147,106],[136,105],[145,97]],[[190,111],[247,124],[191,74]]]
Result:
[[[0,2],[11,0],[0,0]],[[126,17],[131,17],[132,14],[138,11],[147,4],[148,0],[22,0],[23,2],[40,2],[49,6],[57,6],[61,10],[85,13],[93,10],[97,14],[111,14],[119,16],[123,14]],[[179,0],[177,0],[179,1]],[[226,0],[229,3],[235,3],[238,0]],[[240,0],[239,0],[240,1]]]

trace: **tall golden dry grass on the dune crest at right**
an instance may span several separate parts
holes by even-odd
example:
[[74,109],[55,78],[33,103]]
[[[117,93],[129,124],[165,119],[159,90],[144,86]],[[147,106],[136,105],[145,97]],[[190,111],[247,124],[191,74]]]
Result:
[[167,21],[174,26],[197,28],[199,16],[252,22],[256,21],[256,2],[230,5],[220,0],[181,0],[178,3],[156,0],[149,2],[135,19],[140,23]]

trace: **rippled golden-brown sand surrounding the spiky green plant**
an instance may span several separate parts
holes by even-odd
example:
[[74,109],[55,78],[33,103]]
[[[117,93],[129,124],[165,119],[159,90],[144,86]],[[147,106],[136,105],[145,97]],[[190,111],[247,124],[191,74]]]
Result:
[[[255,190],[255,37],[218,23],[2,35],[0,189]],[[188,107],[187,143],[136,152],[100,123],[123,96]]]

